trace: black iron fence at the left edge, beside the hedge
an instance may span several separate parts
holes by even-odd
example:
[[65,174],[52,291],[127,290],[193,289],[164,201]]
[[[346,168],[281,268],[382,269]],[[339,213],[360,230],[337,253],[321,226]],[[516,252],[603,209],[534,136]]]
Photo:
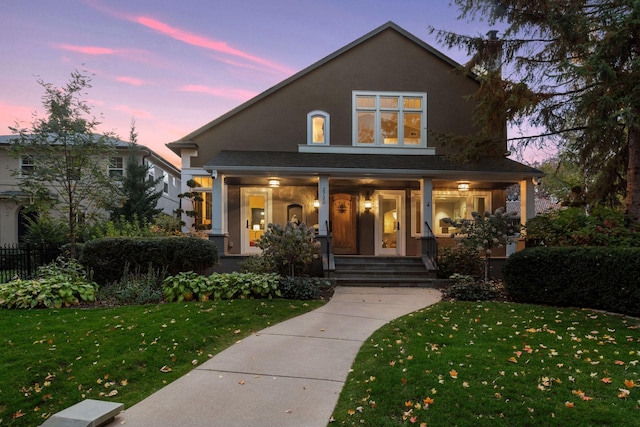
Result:
[[26,279],[36,269],[62,254],[60,246],[46,243],[16,243],[0,246],[0,283],[14,278]]

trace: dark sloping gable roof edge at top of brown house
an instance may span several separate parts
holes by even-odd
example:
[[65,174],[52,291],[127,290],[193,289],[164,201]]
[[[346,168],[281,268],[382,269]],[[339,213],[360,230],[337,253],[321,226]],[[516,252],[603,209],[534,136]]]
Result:
[[228,119],[231,116],[234,116],[235,114],[239,113],[242,110],[247,109],[248,107],[254,105],[257,102],[259,102],[260,100],[268,97],[272,93],[277,92],[278,90],[282,89],[283,87],[291,84],[292,82],[300,79],[301,77],[303,77],[303,76],[311,73],[312,71],[322,67],[324,64],[334,60],[335,58],[339,57],[340,55],[345,54],[346,52],[350,51],[354,47],[356,47],[356,46],[358,46],[358,45],[360,45],[360,44],[362,44],[362,43],[374,38],[378,34],[384,32],[384,31],[387,31],[387,30],[396,31],[397,33],[399,33],[402,36],[406,37],[407,39],[411,40],[413,43],[415,43],[416,45],[422,47],[423,49],[425,49],[427,52],[431,53],[432,55],[434,55],[438,59],[440,59],[443,62],[445,62],[448,65],[450,65],[451,68],[462,67],[461,64],[459,64],[456,61],[454,61],[453,59],[449,58],[448,56],[446,56],[445,54],[443,54],[439,50],[433,48],[428,43],[425,43],[424,41],[420,40],[418,37],[416,37],[413,34],[409,33],[407,30],[405,30],[404,28],[398,26],[396,23],[394,23],[392,21],[389,21],[386,24],[383,24],[380,27],[376,28],[375,30],[369,32],[368,34],[365,34],[364,36],[360,37],[359,39],[349,43],[348,45],[344,46],[342,49],[339,49],[339,50],[333,52],[332,54],[324,57],[323,59],[321,59],[321,60],[315,62],[314,64],[308,66],[307,68],[303,69],[302,71],[299,71],[298,73],[294,74],[293,76],[283,80],[282,82],[278,83],[277,85],[267,89],[266,91],[260,93],[259,95],[256,95],[255,97],[253,97],[250,100],[246,101],[245,103],[239,105],[238,107],[234,108],[233,110],[230,110],[229,112],[227,112],[227,113],[223,114],[222,116],[214,119],[213,121],[207,123],[206,125],[200,127],[199,129],[196,129],[195,131],[191,132],[190,134],[186,135],[185,137],[181,138],[180,140],[174,141],[174,142],[170,142],[170,143],[166,144],[167,147],[169,147],[177,155],[180,155],[180,149],[181,148],[192,148],[193,147],[193,145],[191,145],[191,144],[193,144],[193,142],[190,141],[192,138],[195,138],[196,136],[206,132],[207,130],[209,130],[212,127],[216,126],[218,123]]

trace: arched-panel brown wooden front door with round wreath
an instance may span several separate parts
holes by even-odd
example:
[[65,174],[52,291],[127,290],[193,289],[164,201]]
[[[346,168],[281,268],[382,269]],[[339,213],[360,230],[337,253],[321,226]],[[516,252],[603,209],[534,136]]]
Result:
[[331,196],[331,234],[334,254],[356,254],[356,198],[354,196],[349,194]]

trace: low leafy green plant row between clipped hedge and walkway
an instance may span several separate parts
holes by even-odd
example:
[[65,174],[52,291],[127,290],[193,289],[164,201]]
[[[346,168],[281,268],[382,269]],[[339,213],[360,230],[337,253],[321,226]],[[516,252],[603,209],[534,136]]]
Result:
[[167,301],[271,298],[280,296],[277,274],[214,273],[209,277],[192,271],[169,276],[163,281]]

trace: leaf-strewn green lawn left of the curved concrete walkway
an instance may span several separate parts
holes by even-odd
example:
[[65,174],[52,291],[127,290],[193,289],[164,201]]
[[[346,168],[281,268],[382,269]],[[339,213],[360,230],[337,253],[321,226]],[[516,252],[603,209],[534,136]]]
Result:
[[125,408],[239,339],[322,301],[231,300],[0,310],[0,425],[38,426],[85,398]]

